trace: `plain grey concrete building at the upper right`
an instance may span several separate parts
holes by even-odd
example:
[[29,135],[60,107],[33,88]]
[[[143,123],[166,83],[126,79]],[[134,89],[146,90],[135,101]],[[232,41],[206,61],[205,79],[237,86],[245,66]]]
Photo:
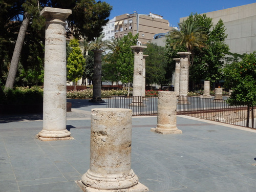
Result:
[[[216,25],[223,20],[226,28],[226,44],[231,53],[256,51],[256,3],[205,13]],[[187,17],[180,18],[180,22]]]

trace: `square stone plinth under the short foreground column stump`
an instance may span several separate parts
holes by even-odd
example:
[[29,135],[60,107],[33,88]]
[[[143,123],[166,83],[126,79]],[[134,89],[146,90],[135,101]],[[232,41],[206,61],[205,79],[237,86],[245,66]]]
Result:
[[79,187],[84,191],[84,192],[144,192],[148,191],[148,188],[138,182],[138,184],[130,187],[130,188],[124,188],[124,189],[98,189],[98,188],[92,188],[84,185],[82,181],[76,181],[76,183],[79,185]]

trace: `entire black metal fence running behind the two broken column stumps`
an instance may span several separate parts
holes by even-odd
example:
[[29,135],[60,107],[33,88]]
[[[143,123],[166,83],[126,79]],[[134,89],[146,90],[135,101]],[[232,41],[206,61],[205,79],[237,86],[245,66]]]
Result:
[[[240,126],[256,128],[255,106],[247,102],[230,105],[229,96],[216,99],[214,96],[179,96],[177,97],[177,115],[219,121]],[[180,101],[182,100],[182,102]],[[132,109],[133,116],[157,115],[157,97],[112,96],[107,99],[107,108]]]

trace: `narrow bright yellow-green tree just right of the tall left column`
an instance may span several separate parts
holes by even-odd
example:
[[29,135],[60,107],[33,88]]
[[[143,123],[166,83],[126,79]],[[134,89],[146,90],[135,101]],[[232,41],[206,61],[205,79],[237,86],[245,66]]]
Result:
[[86,59],[83,58],[78,39],[70,40],[69,46],[71,53],[67,60],[67,77],[69,80],[75,81],[76,84],[83,75]]

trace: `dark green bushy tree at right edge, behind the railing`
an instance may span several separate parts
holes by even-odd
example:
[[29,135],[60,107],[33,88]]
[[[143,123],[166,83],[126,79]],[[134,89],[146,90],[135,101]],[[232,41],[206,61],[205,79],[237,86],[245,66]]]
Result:
[[224,68],[225,87],[231,89],[230,103],[252,102],[256,105],[256,52],[244,55],[242,61]]

